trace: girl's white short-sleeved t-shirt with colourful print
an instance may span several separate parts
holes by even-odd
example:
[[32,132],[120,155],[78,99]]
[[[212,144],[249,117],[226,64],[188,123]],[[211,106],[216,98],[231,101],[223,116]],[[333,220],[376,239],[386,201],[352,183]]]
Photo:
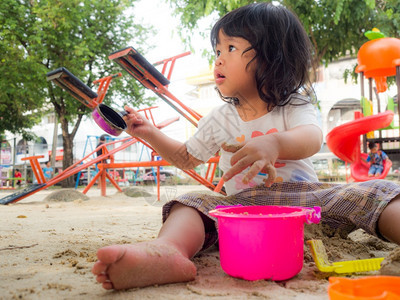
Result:
[[[198,131],[187,142],[187,151],[195,158],[206,162],[221,150],[219,167],[223,172],[231,168],[230,159],[233,153],[221,149],[221,144],[236,144],[272,132],[287,131],[291,128],[313,124],[319,127],[314,106],[304,102],[300,95],[292,97],[289,104],[276,106],[264,116],[244,122],[235,106],[223,104],[211,111],[199,121]],[[251,114],[252,111],[247,113]],[[277,178],[275,182],[283,181],[318,181],[310,159],[277,160],[275,163]],[[259,173],[248,184],[242,182],[247,172],[245,169],[225,182],[228,195],[243,189],[263,184],[268,175]]]

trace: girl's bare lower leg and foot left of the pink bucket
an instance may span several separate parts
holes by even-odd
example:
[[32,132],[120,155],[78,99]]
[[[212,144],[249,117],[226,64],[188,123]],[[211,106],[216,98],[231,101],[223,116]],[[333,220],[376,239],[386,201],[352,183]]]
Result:
[[99,249],[92,273],[105,289],[194,280],[196,267],[190,258],[201,249],[204,239],[199,212],[177,203],[157,239]]

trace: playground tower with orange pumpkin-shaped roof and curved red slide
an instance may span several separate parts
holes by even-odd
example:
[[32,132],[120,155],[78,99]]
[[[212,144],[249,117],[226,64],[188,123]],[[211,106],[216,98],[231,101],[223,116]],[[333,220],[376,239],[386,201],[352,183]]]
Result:
[[[366,34],[367,35],[367,34]],[[378,143],[380,149],[389,157],[400,154],[400,147],[392,148],[391,144],[400,141],[400,127],[394,126],[394,116],[400,116],[400,105],[389,99],[387,110],[381,112],[379,93],[387,90],[387,77],[395,76],[397,85],[397,101],[400,96],[400,40],[396,38],[375,38],[363,44],[358,52],[358,66],[360,73],[362,113],[355,112],[355,120],[342,124],[331,130],[327,137],[329,149],[340,159],[350,163],[351,177],[355,181],[383,179],[387,176],[392,163],[386,161],[384,170],[378,177],[368,177],[369,165],[363,159],[367,155],[367,142]],[[369,99],[365,97],[364,77],[368,79]],[[376,88],[373,87],[375,82]],[[377,98],[378,113],[372,113],[373,91]],[[397,107],[396,107],[397,106]],[[375,137],[374,131],[378,131]],[[390,132],[389,132],[390,131]],[[384,135],[383,135],[384,133]],[[362,141],[361,141],[361,137]],[[361,145],[363,152],[361,152]],[[348,180],[349,178],[346,177]]]

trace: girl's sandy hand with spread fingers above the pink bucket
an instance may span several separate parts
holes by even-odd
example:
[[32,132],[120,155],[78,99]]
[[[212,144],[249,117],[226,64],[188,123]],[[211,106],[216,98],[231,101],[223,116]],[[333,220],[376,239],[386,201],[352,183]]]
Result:
[[274,164],[279,155],[277,141],[272,134],[255,137],[246,143],[236,145],[223,143],[222,149],[235,153],[231,158],[232,168],[223,176],[225,181],[250,166],[243,177],[243,183],[247,184],[259,172],[263,172],[268,174],[265,185],[268,187],[272,185],[276,178]]

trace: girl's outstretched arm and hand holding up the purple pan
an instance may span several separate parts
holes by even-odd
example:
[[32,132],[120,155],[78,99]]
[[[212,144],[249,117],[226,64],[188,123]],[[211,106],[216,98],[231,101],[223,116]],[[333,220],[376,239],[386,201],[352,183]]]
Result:
[[187,152],[185,144],[171,139],[134,109],[125,106],[128,134],[148,142],[170,164],[180,169],[192,169],[203,162]]

